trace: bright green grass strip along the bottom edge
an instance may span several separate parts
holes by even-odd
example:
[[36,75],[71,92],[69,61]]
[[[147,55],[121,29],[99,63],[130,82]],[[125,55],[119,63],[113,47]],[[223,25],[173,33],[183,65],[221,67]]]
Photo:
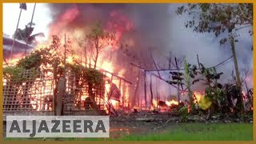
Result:
[[[42,138],[6,138],[6,140],[42,140]],[[58,140],[46,138],[46,140]],[[178,123],[158,134],[130,134],[122,138],[64,138],[66,141],[252,141],[250,123]]]

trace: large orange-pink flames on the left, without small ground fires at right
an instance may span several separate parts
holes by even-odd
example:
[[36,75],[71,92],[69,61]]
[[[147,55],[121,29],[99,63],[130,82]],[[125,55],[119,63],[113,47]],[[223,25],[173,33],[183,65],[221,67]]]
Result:
[[[76,62],[79,62],[82,66],[90,67],[90,65],[94,66],[94,61],[92,59],[88,59],[82,55],[80,51],[82,51],[82,47],[79,46],[77,38],[86,38],[86,33],[89,31],[85,31],[83,28],[76,28],[75,30],[70,30],[68,27],[69,22],[72,22],[75,18],[79,16],[80,12],[78,10],[77,6],[71,7],[69,10],[66,10],[64,14],[62,14],[61,17],[58,18],[58,21],[52,23],[50,25],[50,37],[49,39],[44,43],[39,43],[34,50],[43,49],[44,47],[50,46],[51,43],[51,35],[56,34],[58,37],[61,38],[61,43],[64,45],[65,38],[64,35],[66,34],[67,37],[70,36],[69,41],[72,42],[71,46],[69,47],[70,51],[73,51],[74,53],[69,54],[66,53],[66,63],[74,64]],[[120,20],[120,21],[119,21]],[[111,61],[111,58],[109,58],[109,54],[113,52],[114,50],[118,50],[118,42],[122,38],[122,33],[132,30],[133,29],[133,22],[130,22],[129,18],[126,18],[125,15],[122,13],[119,13],[118,11],[113,11],[110,13],[110,18],[108,22],[106,22],[106,25],[104,27],[105,31],[111,31],[115,35],[115,39],[107,40],[105,42],[101,43],[105,45],[104,50],[100,53],[100,56],[98,57],[97,67],[98,70],[106,70],[110,73],[117,74],[120,77],[123,77],[123,75],[126,73],[126,70],[123,69],[120,66],[114,66],[114,63]],[[90,27],[90,26],[88,26]],[[91,48],[89,48],[91,49]],[[54,53],[59,53],[59,58],[61,59],[63,54],[63,47],[60,48],[60,50],[55,51]],[[87,51],[87,54],[90,54],[90,52]],[[16,66],[18,61],[22,58],[25,58],[24,54],[16,54],[11,59],[6,59],[6,63],[8,62],[8,66]],[[90,62],[90,63],[89,63]],[[4,65],[6,67],[7,65]],[[52,69],[52,66],[48,64],[47,66],[39,66],[42,70],[43,69]],[[118,73],[116,73],[118,72]],[[47,73],[47,77],[51,77],[53,74]],[[106,73],[106,76],[110,79],[110,74]],[[6,79],[3,80],[6,82]],[[115,109],[118,109],[119,106],[122,104],[122,106],[129,106],[129,86],[127,86],[124,83],[119,82],[118,80],[111,79],[111,82],[116,86],[121,86],[119,90],[124,94],[121,96],[121,102],[118,102],[113,99],[108,99],[108,92],[110,90],[110,84],[106,82],[106,93],[105,93],[105,101],[109,101],[112,103]],[[52,83],[48,83],[47,85],[52,85]],[[31,88],[33,94],[37,94],[38,90],[36,88],[36,85],[32,86]],[[50,90],[44,90],[44,91],[50,91]],[[20,89],[20,93],[22,94],[22,88]],[[83,95],[80,100],[85,101],[88,95]],[[30,98],[30,104],[33,106],[34,110],[44,110],[47,109],[49,106],[43,105],[42,102],[44,101],[44,98],[42,95],[38,94],[35,95],[33,98]],[[50,108],[51,109],[51,108]],[[107,110],[106,106],[104,108]]]

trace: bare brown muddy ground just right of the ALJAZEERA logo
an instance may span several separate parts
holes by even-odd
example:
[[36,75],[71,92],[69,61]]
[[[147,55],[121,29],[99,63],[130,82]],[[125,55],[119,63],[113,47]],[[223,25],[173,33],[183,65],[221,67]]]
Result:
[[171,123],[178,123],[179,120],[178,116],[170,113],[119,113],[117,117],[110,116],[110,138],[170,130]]

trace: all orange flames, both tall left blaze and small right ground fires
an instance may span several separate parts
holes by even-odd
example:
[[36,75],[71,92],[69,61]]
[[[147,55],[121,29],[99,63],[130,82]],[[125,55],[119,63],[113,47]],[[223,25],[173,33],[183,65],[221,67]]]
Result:
[[[86,47],[86,52],[84,50],[84,43],[81,45],[81,41],[83,42],[86,38],[86,34],[89,32],[89,29],[85,29],[84,27],[76,27],[72,30],[70,30],[69,23],[72,22],[75,18],[78,18],[80,12],[78,10],[77,6],[72,6],[70,9],[66,10],[62,16],[60,16],[54,23],[50,25],[50,37],[48,41],[44,43],[38,44],[38,46],[35,49],[42,49],[46,46],[49,46],[51,43],[51,35],[56,34],[58,37],[61,38],[62,45],[65,42],[64,35],[66,34],[66,41],[71,42],[71,46],[68,47],[69,51],[72,51],[72,53],[67,53],[66,54],[66,62],[70,64],[75,64],[76,62],[79,62],[82,64],[82,66],[94,66],[94,61],[92,58],[89,58],[90,50],[91,47]],[[86,25],[86,23],[85,23]],[[90,27],[90,26],[88,26]],[[127,18],[124,14],[122,14],[120,11],[112,11],[109,14],[108,21],[104,24],[104,30],[105,31],[110,31],[115,35],[114,39],[111,40],[106,40],[106,41],[101,41],[103,43],[104,50],[100,53],[100,56],[98,57],[98,62],[97,62],[97,69],[98,70],[106,70],[110,73],[116,74],[120,77],[124,77],[126,74],[126,69],[122,68],[122,66],[117,66],[110,58],[110,55],[112,52],[115,50],[118,50],[119,46],[119,41],[122,39],[122,34],[129,32],[130,30],[134,29],[134,23],[130,21],[129,18]],[[130,44],[133,45],[134,41],[133,39],[128,40]],[[53,51],[53,53],[56,53]],[[63,47],[61,50],[58,51],[59,57],[62,57],[64,55],[63,53]],[[87,54],[87,57],[86,57]],[[14,58],[12,59],[7,59],[6,61],[8,62],[9,66],[15,66],[21,58],[23,58],[23,54],[18,54],[15,55]],[[6,65],[4,65],[6,66]],[[41,68],[51,68],[50,65],[47,66],[40,66]],[[119,109],[120,106],[122,107],[129,107],[129,91],[130,91],[130,86],[126,83],[120,83],[118,79],[112,78],[112,74],[106,73],[106,76],[111,79],[111,82],[114,83],[114,85],[118,86],[118,89],[121,91],[121,101],[118,102],[114,99],[108,99],[108,93],[105,94],[104,101],[107,102],[109,101],[112,103],[115,109]],[[52,74],[47,74],[47,75],[52,75]],[[138,78],[137,78],[138,79]],[[5,81],[5,80],[4,80]],[[50,84],[49,84],[50,85]],[[110,90],[110,83],[106,82],[106,92],[109,92]],[[46,90],[47,91],[47,90]],[[48,90],[49,91],[49,90]],[[36,90],[34,91],[36,93]],[[183,94],[183,93],[182,93]],[[194,91],[194,95],[197,99],[197,101],[202,98],[202,93],[198,91]],[[85,101],[88,95],[83,95],[80,100]],[[41,110],[42,109],[42,104],[38,104],[37,100],[42,101],[41,96],[38,94],[34,98],[32,98],[31,103],[34,104],[34,109]],[[174,105],[178,105],[179,102],[177,100],[171,99],[170,101],[165,101],[167,107],[171,107]],[[158,106],[158,102],[156,99],[153,100],[153,106],[151,109],[154,108],[160,108]],[[107,107],[104,107],[105,110],[107,110]]]

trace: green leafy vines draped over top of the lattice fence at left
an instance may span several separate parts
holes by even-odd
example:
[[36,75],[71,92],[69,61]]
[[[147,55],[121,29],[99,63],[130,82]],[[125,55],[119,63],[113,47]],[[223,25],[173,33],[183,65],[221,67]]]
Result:
[[[61,76],[64,74],[65,68],[63,66],[62,55],[58,53],[60,46],[60,39],[58,36],[54,35],[50,46],[32,51],[28,56],[22,58],[18,62],[17,66],[5,67],[5,78],[11,79],[12,81],[22,82],[26,80],[26,78],[22,76],[24,70],[33,71],[33,77],[33,75],[36,76],[36,74],[40,72],[40,66],[42,66],[42,69],[45,72],[53,72],[54,63],[57,66],[57,75]],[[71,72],[76,75],[77,79],[82,79],[82,84],[87,82],[92,84],[92,86],[105,85],[105,76],[98,70],[87,68],[78,64],[72,65],[69,63],[66,63],[66,70],[71,70]]]

